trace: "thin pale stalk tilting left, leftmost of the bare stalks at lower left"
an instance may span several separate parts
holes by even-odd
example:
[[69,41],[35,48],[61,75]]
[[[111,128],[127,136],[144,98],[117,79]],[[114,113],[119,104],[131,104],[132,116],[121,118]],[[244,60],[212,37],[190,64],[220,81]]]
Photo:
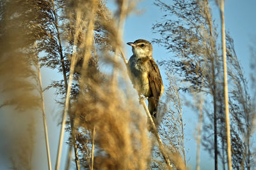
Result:
[[[36,49],[36,41],[35,41],[35,49]],[[42,116],[43,116],[43,121],[44,121],[44,136],[45,136],[45,145],[46,145],[46,152],[47,152],[47,162],[48,162],[48,169],[51,170],[51,154],[50,154],[50,149],[49,149],[49,139],[48,139],[48,131],[47,131],[47,122],[46,122],[46,117],[45,117],[45,102],[44,102],[44,91],[42,88],[42,78],[41,78],[41,71],[40,71],[40,64],[38,60],[38,53],[36,52],[37,56],[37,74],[38,74],[38,82],[39,82],[39,89],[40,89],[40,97],[42,101]]]

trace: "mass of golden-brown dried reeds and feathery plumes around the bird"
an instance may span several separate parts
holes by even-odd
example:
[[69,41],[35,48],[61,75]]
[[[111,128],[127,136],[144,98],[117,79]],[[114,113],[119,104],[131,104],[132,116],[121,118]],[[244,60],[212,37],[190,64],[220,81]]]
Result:
[[[160,62],[166,68],[168,88],[160,103],[159,125],[153,125],[152,132],[147,130],[147,106],[143,102],[143,110],[128,80],[123,53],[124,22],[136,10],[136,1],[115,1],[115,11],[101,0],[0,2],[1,109],[8,106],[6,113],[15,117],[12,124],[20,118],[13,125],[20,133],[13,133],[11,143],[17,150],[8,148],[13,169],[38,168],[32,156],[38,113],[44,120],[49,169],[60,169],[61,165],[70,169],[73,160],[76,169],[187,169],[183,120],[186,99],[180,94],[192,96],[195,103],[186,105],[199,113],[196,169],[201,143],[214,155],[216,167],[218,157],[225,160],[222,59],[218,29],[207,0],[174,0],[172,5],[156,1],[167,14],[152,28],[160,34],[154,42],[174,52],[176,58]],[[248,92],[233,40],[228,34],[226,39],[228,78],[233,82],[229,90],[232,166],[250,169],[255,164],[255,99]],[[60,73],[60,80],[42,89],[40,67]],[[58,113],[62,125],[54,164],[49,152],[51,143],[47,144],[43,94],[49,89],[56,90],[56,101],[63,108]],[[65,129],[70,134],[70,149],[67,161],[61,162]],[[207,138],[212,134],[214,138]],[[227,162],[222,163],[225,167]]]

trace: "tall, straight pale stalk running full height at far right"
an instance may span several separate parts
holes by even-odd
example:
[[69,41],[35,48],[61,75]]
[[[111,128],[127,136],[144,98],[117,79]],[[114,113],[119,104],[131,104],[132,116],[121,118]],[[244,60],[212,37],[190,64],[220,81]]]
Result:
[[224,18],[224,1],[220,3],[221,13],[221,39],[222,39],[222,52],[223,52],[223,70],[224,70],[224,99],[225,99],[225,116],[226,116],[226,130],[227,130],[227,157],[228,157],[228,170],[232,170],[231,162],[231,145],[230,145],[230,123],[228,111],[228,82],[227,82],[227,56],[226,56],[226,36],[225,36],[225,18]]

